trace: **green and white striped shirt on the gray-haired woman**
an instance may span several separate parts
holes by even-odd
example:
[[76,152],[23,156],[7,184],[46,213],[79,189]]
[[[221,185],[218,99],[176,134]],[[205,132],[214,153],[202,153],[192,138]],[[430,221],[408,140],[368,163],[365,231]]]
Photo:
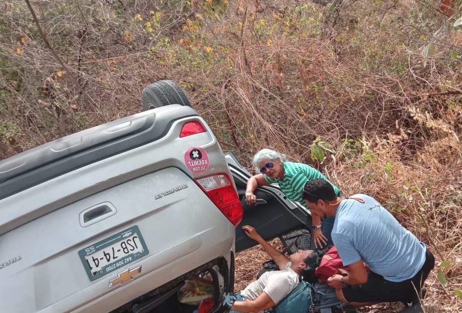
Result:
[[[280,179],[279,177],[271,178],[263,175],[264,179],[270,184],[277,183],[289,200],[298,201],[309,210],[308,205],[302,198],[302,192],[306,182],[316,178],[329,180],[321,174],[321,172],[307,164],[283,162],[282,166],[284,168],[284,179]],[[335,187],[334,184],[330,184],[334,187],[335,194],[338,195],[338,188]]]

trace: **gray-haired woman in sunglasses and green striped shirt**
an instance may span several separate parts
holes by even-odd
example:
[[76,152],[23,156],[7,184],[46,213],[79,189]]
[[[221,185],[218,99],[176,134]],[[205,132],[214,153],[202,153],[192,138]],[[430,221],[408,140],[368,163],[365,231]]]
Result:
[[[251,177],[247,182],[246,202],[248,205],[256,203],[257,197],[255,197],[254,191],[258,186],[269,186],[272,183],[277,183],[289,200],[298,201],[309,210],[310,208],[302,198],[305,183],[316,178],[329,181],[315,168],[303,163],[287,162],[285,155],[271,149],[258,151],[254,156],[253,165],[260,174]],[[333,184],[332,186],[336,194],[341,197],[342,194],[338,188]],[[322,222],[316,214],[312,214],[311,218],[314,247],[323,248],[323,244],[333,245],[330,234],[334,224],[333,216]]]

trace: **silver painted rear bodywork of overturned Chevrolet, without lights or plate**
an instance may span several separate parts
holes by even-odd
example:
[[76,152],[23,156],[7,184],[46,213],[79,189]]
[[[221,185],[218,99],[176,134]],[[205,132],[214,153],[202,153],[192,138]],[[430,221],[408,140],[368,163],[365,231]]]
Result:
[[[189,121],[199,121],[206,132],[180,138]],[[159,125],[167,128],[157,130]],[[200,175],[185,165],[191,147],[208,155],[209,167]],[[135,114],[0,162],[2,186],[16,190],[0,200],[0,263],[20,257],[0,270],[0,311],[110,311],[205,261],[225,257],[229,262],[235,228],[193,181],[218,173],[232,180],[205,121],[179,105]],[[14,182],[25,175],[30,186],[21,188]],[[156,199],[178,186],[183,188]],[[109,203],[111,213],[85,224],[82,214],[102,203]],[[149,254],[90,281],[78,251],[134,225]],[[109,287],[118,272],[138,266],[135,280]]]

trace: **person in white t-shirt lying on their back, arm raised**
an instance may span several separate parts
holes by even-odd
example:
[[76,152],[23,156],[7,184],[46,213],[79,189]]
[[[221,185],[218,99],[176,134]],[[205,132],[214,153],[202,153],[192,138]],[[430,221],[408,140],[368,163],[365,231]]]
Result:
[[263,273],[237,295],[226,295],[224,304],[231,308],[230,313],[263,312],[284,299],[300,283],[300,276],[314,272],[318,254],[313,250],[299,250],[286,257],[267,243],[255,228],[246,225],[242,229],[263,247],[280,270]]

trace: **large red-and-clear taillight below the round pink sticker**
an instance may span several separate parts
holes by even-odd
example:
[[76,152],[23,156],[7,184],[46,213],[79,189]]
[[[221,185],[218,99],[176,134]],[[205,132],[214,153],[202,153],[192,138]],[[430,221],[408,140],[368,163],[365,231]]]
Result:
[[234,226],[242,221],[244,211],[228,175],[218,174],[199,178],[196,179],[196,183]]

